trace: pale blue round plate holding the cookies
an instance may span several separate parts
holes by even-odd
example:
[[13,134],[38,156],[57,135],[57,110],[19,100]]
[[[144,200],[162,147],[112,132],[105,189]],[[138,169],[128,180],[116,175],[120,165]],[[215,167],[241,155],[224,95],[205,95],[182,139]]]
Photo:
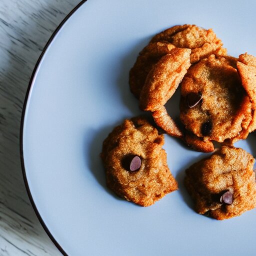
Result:
[[[184,170],[205,154],[165,136],[179,190],[150,207],[109,192],[99,157],[112,128],[140,113],[128,72],[152,35],[195,23],[212,27],[229,54],[256,55],[255,9],[252,0],[88,0],[57,29],[31,78],[21,153],[35,211],[63,253],[255,255],[255,209],[224,221],[192,209]],[[177,114],[178,95],[170,104]],[[236,145],[256,152],[254,135]]]

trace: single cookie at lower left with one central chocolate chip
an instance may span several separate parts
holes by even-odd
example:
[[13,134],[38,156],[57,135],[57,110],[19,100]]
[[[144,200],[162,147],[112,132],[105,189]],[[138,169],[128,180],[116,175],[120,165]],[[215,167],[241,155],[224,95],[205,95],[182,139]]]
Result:
[[115,127],[103,142],[106,185],[118,196],[149,206],[177,189],[162,149],[163,134],[144,117]]

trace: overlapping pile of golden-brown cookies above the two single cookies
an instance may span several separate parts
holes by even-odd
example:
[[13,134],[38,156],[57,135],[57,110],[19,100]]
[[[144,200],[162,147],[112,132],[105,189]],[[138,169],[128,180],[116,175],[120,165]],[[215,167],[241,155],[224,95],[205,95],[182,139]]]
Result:
[[[131,92],[166,133],[202,152],[256,129],[256,57],[227,55],[212,29],[179,25],[153,36],[130,70]],[[164,104],[181,86],[178,127]]]

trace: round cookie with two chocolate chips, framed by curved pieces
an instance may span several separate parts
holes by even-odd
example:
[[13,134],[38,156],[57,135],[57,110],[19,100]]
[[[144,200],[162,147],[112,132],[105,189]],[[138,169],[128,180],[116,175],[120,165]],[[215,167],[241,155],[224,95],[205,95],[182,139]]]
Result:
[[238,60],[212,54],[193,64],[182,79],[180,120],[188,131],[186,142],[199,151],[212,151],[213,140],[232,144],[246,138],[254,127],[254,95],[244,89]]

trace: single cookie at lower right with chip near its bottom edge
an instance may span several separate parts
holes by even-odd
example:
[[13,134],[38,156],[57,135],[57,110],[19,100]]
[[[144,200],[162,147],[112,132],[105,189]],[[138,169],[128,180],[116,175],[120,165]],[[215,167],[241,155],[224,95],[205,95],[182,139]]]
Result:
[[256,206],[254,158],[241,148],[222,146],[186,169],[185,186],[195,211],[222,220]]

